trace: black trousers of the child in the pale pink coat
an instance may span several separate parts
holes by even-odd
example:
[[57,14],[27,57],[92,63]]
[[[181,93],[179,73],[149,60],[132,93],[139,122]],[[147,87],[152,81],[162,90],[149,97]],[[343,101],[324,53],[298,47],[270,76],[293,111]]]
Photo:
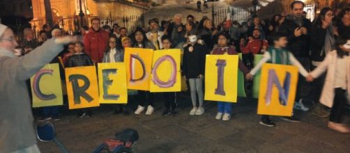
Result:
[[330,111],[329,121],[341,123],[345,112],[345,106],[347,105],[347,97],[345,96],[346,90],[342,88],[335,88],[335,97],[333,100],[333,107]]

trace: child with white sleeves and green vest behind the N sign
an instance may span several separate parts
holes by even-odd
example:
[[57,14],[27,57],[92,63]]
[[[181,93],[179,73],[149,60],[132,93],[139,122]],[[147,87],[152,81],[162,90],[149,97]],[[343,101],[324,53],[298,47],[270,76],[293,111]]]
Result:
[[[287,37],[282,33],[274,33],[270,38],[271,47],[268,48],[268,51],[265,52],[264,58],[259,61],[259,63],[246,75],[246,79],[252,79],[253,75],[261,68],[264,63],[274,63],[281,65],[295,65],[298,67],[299,73],[303,77],[307,77],[308,73],[304,69],[298,60],[291,54],[285,47],[287,47]],[[294,116],[289,118],[281,118],[289,122],[300,122]],[[271,122],[268,115],[262,115],[261,122],[259,124],[265,125],[267,127],[275,127],[275,123]]]

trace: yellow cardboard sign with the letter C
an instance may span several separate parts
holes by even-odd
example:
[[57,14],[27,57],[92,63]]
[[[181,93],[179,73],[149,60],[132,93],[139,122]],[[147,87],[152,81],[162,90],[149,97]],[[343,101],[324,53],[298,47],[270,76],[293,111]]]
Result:
[[63,105],[59,64],[45,65],[31,77],[33,107]]

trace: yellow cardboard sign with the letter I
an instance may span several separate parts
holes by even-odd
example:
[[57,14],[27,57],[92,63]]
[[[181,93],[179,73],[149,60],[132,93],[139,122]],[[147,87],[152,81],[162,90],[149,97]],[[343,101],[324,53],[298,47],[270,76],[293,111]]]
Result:
[[237,102],[238,55],[206,56],[204,99]]

